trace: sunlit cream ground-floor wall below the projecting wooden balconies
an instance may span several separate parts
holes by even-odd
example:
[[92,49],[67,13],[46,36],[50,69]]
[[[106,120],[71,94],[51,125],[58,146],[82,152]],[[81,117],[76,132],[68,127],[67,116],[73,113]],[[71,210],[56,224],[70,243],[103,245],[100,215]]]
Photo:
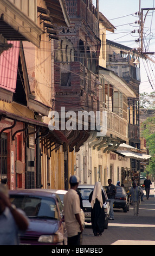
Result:
[[[113,152],[103,154],[102,151],[103,149],[98,151],[89,148],[88,143],[80,148],[76,164],[81,184],[95,184],[100,181],[102,186],[107,186],[107,180],[110,178],[116,185],[118,180],[122,182],[122,168],[125,171],[130,170],[130,159]],[[126,186],[127,178],[123,182]]]

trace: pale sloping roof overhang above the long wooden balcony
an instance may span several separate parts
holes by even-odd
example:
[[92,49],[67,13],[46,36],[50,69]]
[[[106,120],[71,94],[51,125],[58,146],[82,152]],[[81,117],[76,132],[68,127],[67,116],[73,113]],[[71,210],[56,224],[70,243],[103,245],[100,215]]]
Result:
[[105,78],[107,82],[115,86],[121,93],[127,97],[136,97],[136,94],[128,83],[121,77],[117,76],[113,71],[99,67],[99,73]]

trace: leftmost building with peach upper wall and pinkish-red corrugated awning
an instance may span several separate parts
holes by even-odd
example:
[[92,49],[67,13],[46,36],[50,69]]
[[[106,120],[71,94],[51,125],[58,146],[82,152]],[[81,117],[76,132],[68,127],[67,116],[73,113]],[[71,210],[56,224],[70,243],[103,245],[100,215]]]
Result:
[[51,48],[55,23],[69,26],[66,3],[3,0],[0,12],[0,182],[11,189],[57,187],[61,164],[52,159],[67,139],[48,129]]

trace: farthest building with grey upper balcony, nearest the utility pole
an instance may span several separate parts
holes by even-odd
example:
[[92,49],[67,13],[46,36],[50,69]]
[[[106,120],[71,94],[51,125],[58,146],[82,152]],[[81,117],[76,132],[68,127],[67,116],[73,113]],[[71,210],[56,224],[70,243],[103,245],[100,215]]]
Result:
[[[135,97],[127,96],[127,119],[129,144],[138,154],[128,154],[131,160],[132,179],[140,181],[140,122],[139,122],[139,54],[135,49],[107,40],[107,68],[123,78],[134,91]],[[121,114],[121,113],[120,113]],[[122,154],[123,155],[123,154]],[[149,158],[149,156],[148,156]]]

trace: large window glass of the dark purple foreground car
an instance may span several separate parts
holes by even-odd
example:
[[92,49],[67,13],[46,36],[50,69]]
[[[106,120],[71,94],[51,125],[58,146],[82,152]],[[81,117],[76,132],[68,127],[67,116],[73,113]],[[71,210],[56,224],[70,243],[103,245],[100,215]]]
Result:
[[59,212],[53,198],[29,195],[11,195],[11,203],[23,210],[30,218],[59,220]]

